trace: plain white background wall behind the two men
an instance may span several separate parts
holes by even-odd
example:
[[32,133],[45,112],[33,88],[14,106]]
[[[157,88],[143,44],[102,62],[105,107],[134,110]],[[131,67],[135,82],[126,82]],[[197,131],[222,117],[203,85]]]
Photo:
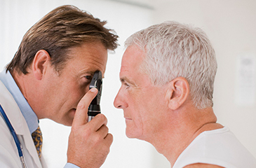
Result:
[[[250,55],[248,60],[251,63],[256,59],[256,1],[127,0],[121,3],[107,0],[0,0],[0,69],[10,62],[27,29],[50,10],[64,4],[75,5],[101,20],[107,20],[107,27],[115,29],[120,36],[121,45],[114,54],[109,54],[103,81],[102,113],[109,120],[109,131],[114,135],[114,142],[102,167],[170,167],[166,158],[157,153],[151,144],[126,137],[123,113],[113,106],[120,87],[123,41],[135,31],[166,20],[192,24],[208,34],[218,62],[214,93],[214,111],[218,122],[229,127],[256,156],[256,67],[255,64],[241,66],[241,60],[247,55]],[[247,70],[250,76],[241,76],[241,69]],[[40,125],[43,153],[49,167],[63,167],[70,128],[50,120],[41,120]]]

